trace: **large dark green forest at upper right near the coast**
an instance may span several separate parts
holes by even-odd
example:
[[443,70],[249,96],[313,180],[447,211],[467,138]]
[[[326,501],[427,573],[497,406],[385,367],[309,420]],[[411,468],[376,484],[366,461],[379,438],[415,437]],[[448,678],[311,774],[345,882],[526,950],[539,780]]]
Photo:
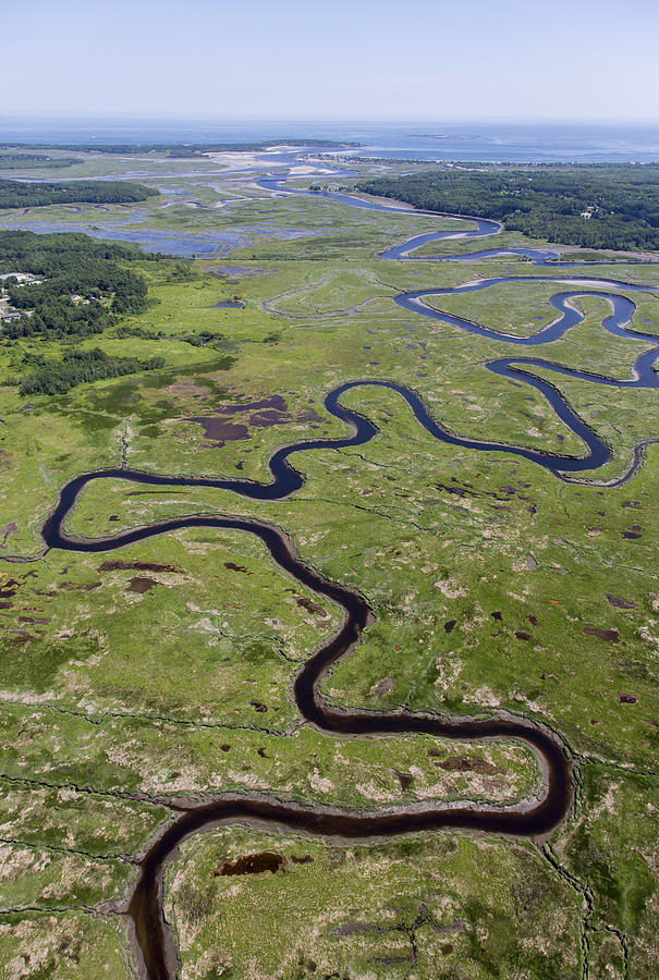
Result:
[[423,210],[492,218],[507,231],[565,245],[659,249],[659,164],[464,164],[362,181],[357,189]]

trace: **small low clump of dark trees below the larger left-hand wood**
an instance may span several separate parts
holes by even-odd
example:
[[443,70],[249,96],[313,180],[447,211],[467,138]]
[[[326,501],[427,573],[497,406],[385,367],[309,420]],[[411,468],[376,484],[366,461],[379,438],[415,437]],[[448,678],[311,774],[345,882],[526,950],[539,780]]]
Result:
[[164,367],[163,357],[113,357],[99,347],[90,351],[70,351],[61,358],[47,359],[37,355],[32,358],[36,370],[21,378],[21,395],[65,394],[76,384],[101,381],[134,375],[136,371],[155,371]]

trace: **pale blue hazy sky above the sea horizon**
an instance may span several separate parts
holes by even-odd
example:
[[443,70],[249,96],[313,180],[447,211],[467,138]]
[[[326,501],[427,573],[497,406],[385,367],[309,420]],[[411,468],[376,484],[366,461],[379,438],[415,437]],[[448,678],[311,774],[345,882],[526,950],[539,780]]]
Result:
[[657,0],[30,0],[0,115],[657,122],[658,39]]

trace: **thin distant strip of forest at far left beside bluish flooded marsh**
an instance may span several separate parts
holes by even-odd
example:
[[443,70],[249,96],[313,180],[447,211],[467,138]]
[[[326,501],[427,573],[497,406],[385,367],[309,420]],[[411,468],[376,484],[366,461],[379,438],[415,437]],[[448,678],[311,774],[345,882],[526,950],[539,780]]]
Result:
[[0,208],[39,208],[58,204],[133,204],[159,191],[131,181],[1,181]]

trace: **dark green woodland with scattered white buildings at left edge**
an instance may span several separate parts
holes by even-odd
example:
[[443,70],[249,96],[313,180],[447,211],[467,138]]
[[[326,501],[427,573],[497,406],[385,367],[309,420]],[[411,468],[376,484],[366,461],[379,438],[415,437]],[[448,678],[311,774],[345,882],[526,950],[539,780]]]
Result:
[[[117,315],[147,307],[146,281],[130,266],[162,258],[71,232],[0,232],[0,274],[44,277],[38,284],[20,284],[13,278],[4,281],[11,305],[33,313],[4,324],[2,336],[56,340],[100,333],[117,322]],[[74,295],[89,302],[73,301]]]

